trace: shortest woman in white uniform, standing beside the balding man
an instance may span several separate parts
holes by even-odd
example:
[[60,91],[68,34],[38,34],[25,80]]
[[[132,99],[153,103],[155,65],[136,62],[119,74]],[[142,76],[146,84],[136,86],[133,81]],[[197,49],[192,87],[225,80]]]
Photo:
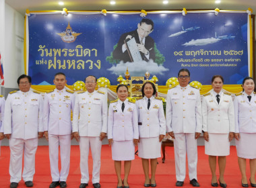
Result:
[[[112,158],[115,160],[117,173],[117,188],[129,188],[128,175],[131,169],[131,160],[134,159],[135,146],[139,140],[137,108],[134,102],[129,101],[128,87],[117,87],[119,99],[111,101],[108,109],[108,144],[112,149]],[[121,160],[125,161],[125,177],[121,178]]]

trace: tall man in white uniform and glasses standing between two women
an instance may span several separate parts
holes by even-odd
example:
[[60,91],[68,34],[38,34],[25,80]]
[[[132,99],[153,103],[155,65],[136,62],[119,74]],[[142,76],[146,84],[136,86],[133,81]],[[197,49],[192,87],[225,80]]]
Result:
[[189,70],[178,74],[179,85],[169,89],[166,101],[167,132],[174,138],[177,187],[182,187],[186,176],[186,152],[189,179],[193,187],[197,182],[197,138],[202,130],[201,97],[198,89],[189,86]]

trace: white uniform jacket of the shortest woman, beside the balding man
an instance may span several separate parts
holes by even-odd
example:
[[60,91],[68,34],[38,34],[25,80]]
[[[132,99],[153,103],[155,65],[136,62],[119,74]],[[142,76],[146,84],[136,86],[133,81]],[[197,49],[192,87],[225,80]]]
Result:
[[122,101],[115,100],[108,108],[108,139],[125,141],[139,139],[137,108],[135,103],[124,101],[125,109],[122,111]]

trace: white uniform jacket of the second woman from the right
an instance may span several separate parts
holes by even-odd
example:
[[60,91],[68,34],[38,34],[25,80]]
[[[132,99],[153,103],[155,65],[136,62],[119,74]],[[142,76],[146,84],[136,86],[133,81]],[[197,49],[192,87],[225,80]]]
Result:
[[228,134],[234,132],[234,104],[229,94],[220,94],[220,104],[213,90],[203,95],[203,131]]

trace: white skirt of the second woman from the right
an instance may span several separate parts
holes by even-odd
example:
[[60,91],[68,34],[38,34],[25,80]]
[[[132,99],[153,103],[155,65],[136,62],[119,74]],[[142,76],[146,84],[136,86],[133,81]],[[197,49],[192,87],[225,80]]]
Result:
[[209,142],[205,141],[205,154],[212,156],[228,156],[230,154],[230,142],[228,134],[209,133]]

